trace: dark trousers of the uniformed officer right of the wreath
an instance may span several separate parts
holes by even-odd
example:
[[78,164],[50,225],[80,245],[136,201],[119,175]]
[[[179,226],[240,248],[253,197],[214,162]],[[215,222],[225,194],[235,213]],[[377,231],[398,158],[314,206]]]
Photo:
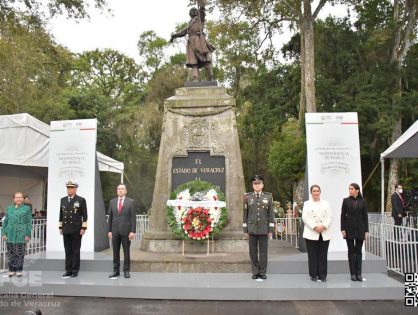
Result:
[[268,235],[250,234],[249,249],[254,275],[265,275],[267,271]]

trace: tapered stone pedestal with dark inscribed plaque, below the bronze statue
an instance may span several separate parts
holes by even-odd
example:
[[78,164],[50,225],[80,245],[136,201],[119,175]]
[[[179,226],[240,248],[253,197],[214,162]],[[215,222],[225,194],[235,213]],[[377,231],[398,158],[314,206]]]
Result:
[[[141,250],[181,253],[182,241],[171,232],[166,217],[170,193],[194,179],[208,181],[225,194],[228,223],[214,238],[214,252],[237,253],[248,263],[248,241],[242,232],[242,196],[245,192],[235,99],[222,87],[184,87],[165,101],[150,225]],[[205,253],[207,245],[187,243],[185,252]],[[232,258],[232,261],[234,259]],[[232,268],[233,269],[233,268]]]

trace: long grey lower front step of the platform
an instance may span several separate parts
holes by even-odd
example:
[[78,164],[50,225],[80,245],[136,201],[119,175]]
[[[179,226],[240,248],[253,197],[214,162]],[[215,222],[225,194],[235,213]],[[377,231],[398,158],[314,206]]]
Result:
[[347,274],[330,274],[328,281],[313,282],[306,274],[269,274],[256,281],[245,273],[140,273],[131,278],[108,278],[108,272],[80,271],[77,278],[62,279],[62,272],[25,270],[21,278],[0,275],[8,295],[53,294],[164,300],[399,300],[402,283],[382,273],[365,273],[364,282]]

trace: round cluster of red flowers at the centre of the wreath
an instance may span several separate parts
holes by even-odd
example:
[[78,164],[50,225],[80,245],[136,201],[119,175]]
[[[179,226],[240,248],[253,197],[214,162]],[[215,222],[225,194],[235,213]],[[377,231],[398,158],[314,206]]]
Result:
[[190,208],[184,213],[182,228],[189,238],[201,240],[208,238],[209,233],[212,232],[211,222],[208,209]]

